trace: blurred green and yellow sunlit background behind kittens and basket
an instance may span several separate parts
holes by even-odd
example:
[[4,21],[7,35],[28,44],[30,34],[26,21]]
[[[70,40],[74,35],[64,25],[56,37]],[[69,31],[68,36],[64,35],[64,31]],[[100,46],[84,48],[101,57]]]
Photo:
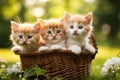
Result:
[[93,61],[95,72],[106,59],[120,53],[120,0],[0,0],[0,56],[13,62],[19,60],[10,51],[10,21],[34,23],[37,18],[60,18],[65,11],[93,12],[99,52]]

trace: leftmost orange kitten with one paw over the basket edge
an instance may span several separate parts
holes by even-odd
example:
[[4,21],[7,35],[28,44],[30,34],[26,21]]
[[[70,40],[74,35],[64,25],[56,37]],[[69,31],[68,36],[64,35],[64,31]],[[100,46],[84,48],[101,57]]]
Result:
[[19,24],[11,21],[10,40],[13,43],[12,51],[34,51],[39,48],[40,24],[23,23]]

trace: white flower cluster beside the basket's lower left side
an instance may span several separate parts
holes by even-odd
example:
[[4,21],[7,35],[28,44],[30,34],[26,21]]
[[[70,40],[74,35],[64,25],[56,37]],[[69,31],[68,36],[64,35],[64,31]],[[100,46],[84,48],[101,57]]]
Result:
[[21,72],[22,71],[22,69],[21,69],[21,63],[20,62],[16,62],[15,64],[13,64],[13,65],[11,65],[11,66],[9,66],[8,68],[7,68],[7,74],[8,75],[10,75],[10,74],[12,74],[12,73],[19,73],[19,72]]

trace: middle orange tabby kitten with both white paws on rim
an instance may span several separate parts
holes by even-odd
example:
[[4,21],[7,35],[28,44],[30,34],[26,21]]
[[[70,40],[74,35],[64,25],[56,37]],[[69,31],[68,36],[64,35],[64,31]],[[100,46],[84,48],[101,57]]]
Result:
[[45,41],[46,46],[39,48],[39,51],[45,50],[60,50],[65,48],[65,29],[60,23],[60,20],[40,20],[40,24],[43,24],[43,30],[41,35]]

